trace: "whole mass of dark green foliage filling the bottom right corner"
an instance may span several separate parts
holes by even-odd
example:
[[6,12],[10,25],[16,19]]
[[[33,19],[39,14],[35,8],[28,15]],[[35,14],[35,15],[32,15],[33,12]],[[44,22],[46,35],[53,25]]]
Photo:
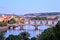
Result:
[[60,40],[60,21],[56,27],[48,28],[39,35],[39,40]]

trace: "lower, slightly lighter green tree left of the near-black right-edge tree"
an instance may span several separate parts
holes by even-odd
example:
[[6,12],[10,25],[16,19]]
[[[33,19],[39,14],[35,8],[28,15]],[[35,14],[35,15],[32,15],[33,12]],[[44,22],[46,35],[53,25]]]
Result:
[[48,28],[41,35],[39,35],[39,40],[56,40],[53,28]]

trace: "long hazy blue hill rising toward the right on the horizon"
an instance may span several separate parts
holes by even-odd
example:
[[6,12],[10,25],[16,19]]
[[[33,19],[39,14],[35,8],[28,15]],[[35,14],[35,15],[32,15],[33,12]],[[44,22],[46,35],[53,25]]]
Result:
[[49,12],[49,13],[31,13],[31,14],[25,14],[24,16],[53,16],[53,15],[60,15],[60,12]]

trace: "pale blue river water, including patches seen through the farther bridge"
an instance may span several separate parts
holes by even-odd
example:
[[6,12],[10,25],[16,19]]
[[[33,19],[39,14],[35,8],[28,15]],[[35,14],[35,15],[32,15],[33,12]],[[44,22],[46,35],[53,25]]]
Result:
[[[32,22],[32,24],[34,23]],[[37,22],[37,24],[39,24],[39,22]],[[43,24],[46,24],[46,22],[43,21]],[[52,24],[52,22],[49,21],[48,24]],[[57,24],[57,22],[54,22],[54,24]],[[36,37],[36,31],[34,26],[27,25],[27,26],[24,26],[23,28],[25,29],[24,31],[30,34],[31,37]],[[47,28],[50,28],[50,26],[38,26],[38,29],[39,29],[38,34],[41,34]],[[18,26],[15,28],[15,30],[7,30],[4,37],[8,37],[9,35],[18,35],[20,33],[21,33],[20,26]]]

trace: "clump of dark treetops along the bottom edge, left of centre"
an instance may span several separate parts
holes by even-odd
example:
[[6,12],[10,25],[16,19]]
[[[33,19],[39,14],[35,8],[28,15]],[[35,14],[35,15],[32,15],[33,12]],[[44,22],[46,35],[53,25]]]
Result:
[[22,32],[19,35],[10,35],[6,40],[29,40],[29,36],[27,32]]

